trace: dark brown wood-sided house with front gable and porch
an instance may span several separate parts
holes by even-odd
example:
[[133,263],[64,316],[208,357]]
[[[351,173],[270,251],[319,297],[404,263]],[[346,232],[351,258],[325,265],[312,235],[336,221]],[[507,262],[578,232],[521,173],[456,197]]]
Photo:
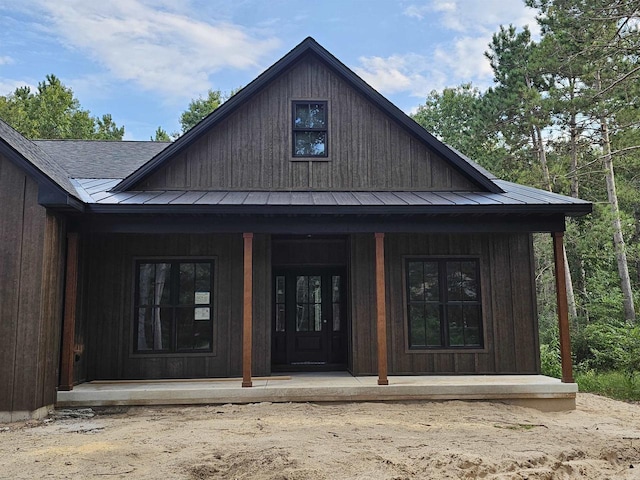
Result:
[[532,233],[561,259],[591,211],[495,178],[311,38],[171,144],[0,122],[0,202],[5,418],[94,380],[539,374]]

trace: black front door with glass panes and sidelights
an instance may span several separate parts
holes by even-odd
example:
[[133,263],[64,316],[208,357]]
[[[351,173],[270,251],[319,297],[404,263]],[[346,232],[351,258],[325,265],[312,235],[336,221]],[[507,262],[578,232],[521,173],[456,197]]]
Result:
[[276,369],[345,368],[345,280],[342,269],[275,272],[271,350]]

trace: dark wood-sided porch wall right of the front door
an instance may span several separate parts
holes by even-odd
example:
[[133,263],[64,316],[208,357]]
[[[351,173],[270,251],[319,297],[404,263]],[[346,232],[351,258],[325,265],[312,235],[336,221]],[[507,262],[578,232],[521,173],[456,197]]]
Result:
[[[528,234],[385,236],[390,374],[540,373],[531,236]],[[485,346],[482,351],[415,351],[406,346],[404,256],[470,255],[480,259]],[[374,374],[375,245],[351,241],[354,374]]]

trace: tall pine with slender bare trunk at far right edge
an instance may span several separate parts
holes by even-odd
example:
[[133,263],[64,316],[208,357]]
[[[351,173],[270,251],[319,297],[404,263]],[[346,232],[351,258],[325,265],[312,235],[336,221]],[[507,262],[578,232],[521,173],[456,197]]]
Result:
[[[624,113],[629,110],[629,97],[632,97],[632,103],[638,101],[638,2],[527,0],[527,4],[540,10],[539,23],[543,35],[560,40],[554,42],[556,52],[560,54],[558,56],[563,63],[571,64],[577,84],[584,86],[581,91],[581,115],[590,122],[592,146],[600,151],[599,160],[602,161],[606,195],[611,209],[613,243],[624,297],[624,315],[628,322],[634,322],[635,306],[614,160],[632,150],[640,149],[640,144],[616,149],[613,137],[624,130],[637,131],[640,120],[636,116],[635,121],[630,123],[621,121]],[[577,189],[577,183],[575,188]]]

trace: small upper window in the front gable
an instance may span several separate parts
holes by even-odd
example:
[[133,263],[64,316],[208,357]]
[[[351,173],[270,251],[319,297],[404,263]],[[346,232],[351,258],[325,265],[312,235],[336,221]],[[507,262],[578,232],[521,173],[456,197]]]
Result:
[[327,102],[293,102],[293,156],[327,156]]

